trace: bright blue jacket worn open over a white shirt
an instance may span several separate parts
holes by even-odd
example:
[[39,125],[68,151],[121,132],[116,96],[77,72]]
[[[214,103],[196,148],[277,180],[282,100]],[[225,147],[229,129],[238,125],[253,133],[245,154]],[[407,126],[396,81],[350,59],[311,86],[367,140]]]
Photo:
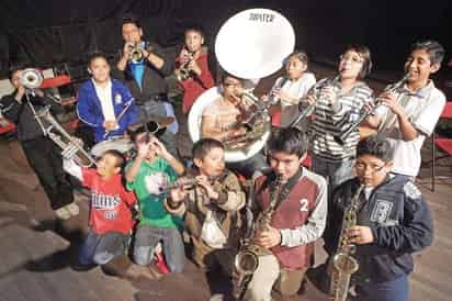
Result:
[[111,131],[104,138],[103,135],[105,129],[103,127],[104,118],[102,105],[95,92],[92,79],[87,80],[78,91],[77,114],[82,122],[93,127],[95,142],[123,135],[129,124],[138,121],[138,111],[135,107],[135,99],[128,89],[116,79],[112,79],[112,98],[116,119],[128,104],[131,104],[131,107],[121,118],[118,129]]

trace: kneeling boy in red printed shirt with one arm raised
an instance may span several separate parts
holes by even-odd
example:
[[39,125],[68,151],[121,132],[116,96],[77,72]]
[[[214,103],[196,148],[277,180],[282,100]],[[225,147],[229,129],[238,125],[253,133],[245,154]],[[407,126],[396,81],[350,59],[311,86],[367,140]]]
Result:
[[65,170],[91,190],[89,231],[79,255],[83,266],[106,265],[127,254],[134,225],[131,208],[136,200],[123,186],[124,161],[123,155],[114,149],[101,156],[97,168],[64,160]]

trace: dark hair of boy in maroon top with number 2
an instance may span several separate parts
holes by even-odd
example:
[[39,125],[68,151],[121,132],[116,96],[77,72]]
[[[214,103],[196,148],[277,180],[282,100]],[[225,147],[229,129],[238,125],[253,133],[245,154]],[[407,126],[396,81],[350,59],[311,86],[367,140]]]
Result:
[[273,133],[269,141],[270,153],[283,152],[302,157],[308,147],[307,135],[296,127],[285,127]]

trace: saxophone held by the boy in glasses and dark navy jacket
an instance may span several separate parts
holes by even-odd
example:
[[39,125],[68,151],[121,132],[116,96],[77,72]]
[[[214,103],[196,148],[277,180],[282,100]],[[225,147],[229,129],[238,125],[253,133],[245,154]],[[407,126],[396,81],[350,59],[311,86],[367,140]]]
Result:
[[349,230],[357,225],[358,211],[360,209],[360,194],[364,189],[364,185],[358,188],[350,204],[346,208],[342,218],[342,228],[339,236],[338,249],[332,257],[332,275],[330,294],[335,298],[335,301],[346,301],[351,275],[357,272],[359,264],[353,255],[357,252],[357,246],[349,242]]

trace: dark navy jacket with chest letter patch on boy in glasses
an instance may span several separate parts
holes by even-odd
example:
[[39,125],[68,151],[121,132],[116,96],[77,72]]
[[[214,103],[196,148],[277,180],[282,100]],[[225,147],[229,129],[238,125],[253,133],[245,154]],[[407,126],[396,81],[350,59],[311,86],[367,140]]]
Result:
[[[343,211],[359,187],[357,178],[340,185],[334,193],[324,233],[325,248],[334,254],[342,226]],[[374,242],[358,245],[358,281],[383,282],[408,275],[414,268],[411,253],[432,244],[433,221],[420,191],[408,179],[389,175],[375,187],[362,207],[358,224],[372,230]]]

